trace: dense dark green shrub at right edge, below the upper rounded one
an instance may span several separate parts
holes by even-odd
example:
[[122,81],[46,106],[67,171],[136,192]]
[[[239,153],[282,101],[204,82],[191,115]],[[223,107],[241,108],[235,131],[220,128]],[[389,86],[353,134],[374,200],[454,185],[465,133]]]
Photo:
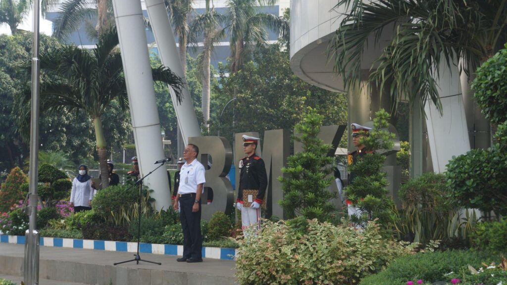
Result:
[[507,215],[507,155],[498,147],[471,150],[449,161],[447,186],[458,206]]

